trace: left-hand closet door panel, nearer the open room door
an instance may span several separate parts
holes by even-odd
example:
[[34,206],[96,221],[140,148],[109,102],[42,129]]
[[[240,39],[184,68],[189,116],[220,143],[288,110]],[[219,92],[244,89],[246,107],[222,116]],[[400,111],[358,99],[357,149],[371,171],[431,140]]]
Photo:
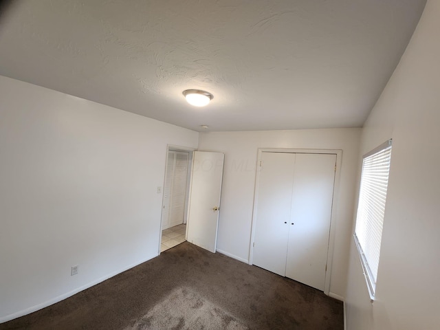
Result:
[[262,153],[252,263],[285,276],[294,153]]

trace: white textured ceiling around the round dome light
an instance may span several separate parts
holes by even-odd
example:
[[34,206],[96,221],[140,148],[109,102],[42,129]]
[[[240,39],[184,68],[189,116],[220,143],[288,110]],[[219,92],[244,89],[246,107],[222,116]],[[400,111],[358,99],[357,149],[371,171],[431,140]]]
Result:
[[0,75],[196,131],[362,126],[425,2],[16,0]]

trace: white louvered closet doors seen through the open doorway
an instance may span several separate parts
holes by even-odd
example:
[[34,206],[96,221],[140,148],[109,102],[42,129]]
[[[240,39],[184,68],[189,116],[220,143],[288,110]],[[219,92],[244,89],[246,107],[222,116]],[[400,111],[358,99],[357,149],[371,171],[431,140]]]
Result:
[[162,230],[186,223],[189,153],[168,151],[165,169]]

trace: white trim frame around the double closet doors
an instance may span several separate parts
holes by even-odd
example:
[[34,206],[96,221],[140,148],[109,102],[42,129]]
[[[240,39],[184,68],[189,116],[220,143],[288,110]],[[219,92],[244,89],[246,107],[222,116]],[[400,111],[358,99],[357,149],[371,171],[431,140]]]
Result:
[[[316,153],[316,154],[330,154],[336,155],[336,171],[335,181],[333,185],[333,203],[331,204],[331,218],[330,218],[330,232],[329,232],[329,245],[327,250],[327,269],[325,271],[325,284],[324,293],[329,296],[330,294],[330,281],[331,281],[331,269],[333,266],[333,252],[335,248],[335,234],[336,225],[333,220],[338,219],[338,197],[340,186],[340,170],[342,164],[342,150],[341,149],[295,149],[295,148],[259,148],[256,159],[256,175],[255,175],[255,189],[254,189],[254,208],[252,210],[252,226],[251,226],[251,239],[249,249],[249,265],[253,265],[254,259],[254,241],[255,241],[255,228],[256,228],[256,213],[258,210],[258,196],[259,196],[259,182],[260,182],[260,162],[261,155],[263,153]],[[336,220],[335,220],[336,222]]]

